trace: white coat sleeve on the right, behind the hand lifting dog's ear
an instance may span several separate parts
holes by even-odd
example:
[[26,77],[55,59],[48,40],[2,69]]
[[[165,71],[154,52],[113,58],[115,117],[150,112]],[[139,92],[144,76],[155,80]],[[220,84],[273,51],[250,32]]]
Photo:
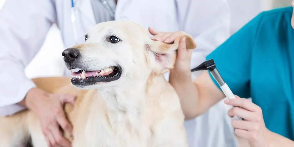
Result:
[[[192,54],[192,69],[230,37],[229,5],[227,0],[176,0],[176,4],[180,29],[192,35],[197,46]],[[193,73],[192,78],[200,73]]]

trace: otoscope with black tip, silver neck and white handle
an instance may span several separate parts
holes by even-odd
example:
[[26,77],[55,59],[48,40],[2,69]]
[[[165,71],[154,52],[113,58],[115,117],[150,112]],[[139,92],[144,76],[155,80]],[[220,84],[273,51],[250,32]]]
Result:
[[[221,87],[221,90],[226,95],[228,99],[236,99],[235,95],[229,88],[229,86],[226,84],[226,82],[221,78],[221,74],[217,71],[214,60],[210,59],[203,63],[201,63],[199,66],[191,69],[191,72],[200,71],[200,70],[209,70],[212,77],[216,80],[217,84]],[[235,106],[234,106],[235,107]],[[237,106],[239,107],[239,106]],[[241,108],[241,107],[240,107]],[[243,118],[239,117],[239,119],[244,120]]]

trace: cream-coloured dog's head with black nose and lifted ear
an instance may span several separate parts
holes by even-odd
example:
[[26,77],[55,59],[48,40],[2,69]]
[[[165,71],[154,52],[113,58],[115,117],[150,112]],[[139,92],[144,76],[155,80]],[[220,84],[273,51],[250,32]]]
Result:
[[[189,35],[181,37],[186,37],[187,48],[196,47]],[[71,72],[73,85],[97,89],[167,72],[173,68],[181,37],[166,44],[151,40],[138,24],[109,21],[91,28],[84,43],[64,50],[62,55],[68,69],[75,70]]]

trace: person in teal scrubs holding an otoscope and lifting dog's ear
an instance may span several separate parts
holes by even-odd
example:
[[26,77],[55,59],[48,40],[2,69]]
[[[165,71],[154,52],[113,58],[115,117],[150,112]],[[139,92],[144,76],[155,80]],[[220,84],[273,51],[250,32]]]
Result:
[[[214,59],[232,92],[242,97],[225,103],[242,107],[230,109],[228,115],[245,119],[232,119],[232,126],[251,147],[294,146],[293,7],[260,13],[207,56],[207,60]],[[157,34],[153,35],[156,38]],[[180,97],[186,119],[204,113],[225,98],[207,71],[191,81],[190,52],[183,38],[169,80]],[[245,99],[250,97],[252,102]]]

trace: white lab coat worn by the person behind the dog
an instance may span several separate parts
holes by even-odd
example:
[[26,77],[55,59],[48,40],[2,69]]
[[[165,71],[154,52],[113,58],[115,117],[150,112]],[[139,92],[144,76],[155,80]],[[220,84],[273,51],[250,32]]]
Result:
[[[96,22],[90,0],[77,0],[76,7],[81,43],[84,33]],[[70,0],[6,0],[4,3],[0,11],[0,115],[23,109],[16,103],[35,86],[26,78],[24,68],[38,53],[53,23],[61,31],[65,48],[75,44],[70,8]],[[205,61],[205,56],[230,35],[226,0],[119,0],[115,20],[130,20],[146,29],[189,33],[197,44],[191,67]],[[190,147],[234,146],[225,143],[233,136],[224,134],[224,126],[230,124],[224,119],[225,113],[223,104],[219,103],[199,119],[187,121]]]

